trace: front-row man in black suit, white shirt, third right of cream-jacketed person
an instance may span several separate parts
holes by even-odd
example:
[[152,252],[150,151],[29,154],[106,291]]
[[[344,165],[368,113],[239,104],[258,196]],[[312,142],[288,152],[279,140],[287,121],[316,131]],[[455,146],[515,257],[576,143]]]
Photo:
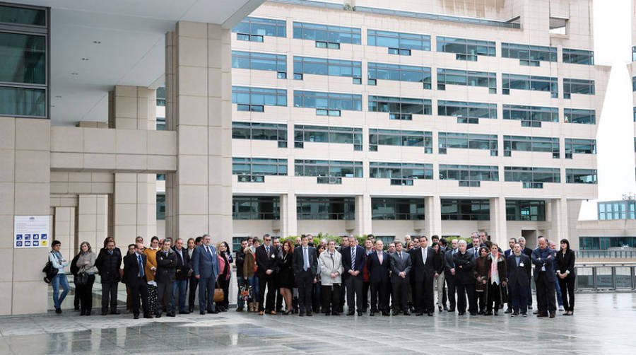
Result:
[[416,315],[427,313],[432,317],[433,279],[435,278],[435,249],[428,246],[428,238],[420,237],[420,248],[413,252],[413,277],[415,277],[415,297],[413,303],[418,308]]

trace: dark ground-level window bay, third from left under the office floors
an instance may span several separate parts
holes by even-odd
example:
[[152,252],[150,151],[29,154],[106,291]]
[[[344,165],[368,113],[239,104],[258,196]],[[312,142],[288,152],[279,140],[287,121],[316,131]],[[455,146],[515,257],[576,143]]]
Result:
[[371,219],[422,221],[424,220],[424,199],[372,198]]

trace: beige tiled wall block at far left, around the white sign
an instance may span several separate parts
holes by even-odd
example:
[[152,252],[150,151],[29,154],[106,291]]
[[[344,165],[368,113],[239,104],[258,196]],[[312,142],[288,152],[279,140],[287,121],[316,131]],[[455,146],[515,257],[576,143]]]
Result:
[[0,315],[47,310],[50,248],[13,249],[13,217],[51,213],[50,130],[49,120],[0,117]]

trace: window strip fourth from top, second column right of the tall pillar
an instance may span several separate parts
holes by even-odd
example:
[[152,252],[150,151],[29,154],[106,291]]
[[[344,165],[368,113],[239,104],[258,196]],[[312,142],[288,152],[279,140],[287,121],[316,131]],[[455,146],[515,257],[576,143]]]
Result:
[[294,146],[304,148],[304,142],[353,144],[354,151],[362,150],[362,129],[354,127],[327,127],[294,125]]

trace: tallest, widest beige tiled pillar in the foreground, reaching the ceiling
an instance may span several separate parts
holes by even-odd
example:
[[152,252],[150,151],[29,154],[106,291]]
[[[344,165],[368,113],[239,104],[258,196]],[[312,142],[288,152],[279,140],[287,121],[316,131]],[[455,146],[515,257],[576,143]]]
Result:
[[232,235],[230,30],[179,21],[165,43],[166,127],[177,131],[178,167],[166,181],[166,233],[208,233],[216,243]]

